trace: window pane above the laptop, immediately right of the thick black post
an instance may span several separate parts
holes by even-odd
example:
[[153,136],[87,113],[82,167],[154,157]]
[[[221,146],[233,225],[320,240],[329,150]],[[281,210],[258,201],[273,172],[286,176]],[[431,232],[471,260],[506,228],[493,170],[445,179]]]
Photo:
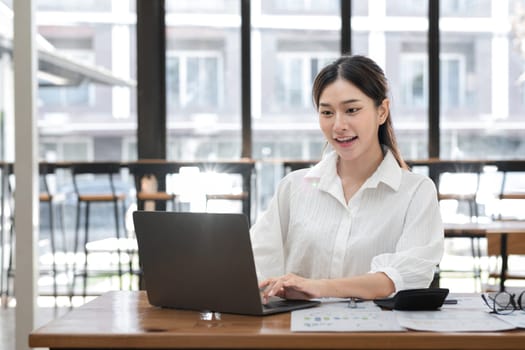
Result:
[[239,4],[166,1],[170,160],[241,156]]

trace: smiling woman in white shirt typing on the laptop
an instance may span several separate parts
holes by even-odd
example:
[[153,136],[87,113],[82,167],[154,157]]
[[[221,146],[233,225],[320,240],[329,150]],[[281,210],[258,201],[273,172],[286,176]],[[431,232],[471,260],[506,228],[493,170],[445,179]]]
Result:
[[428,287],[444,244],[436,188],[400,155],[383,71],[344,56],[319,72],[312,94],[333,151],[283,178],[251,229],[263,299]]

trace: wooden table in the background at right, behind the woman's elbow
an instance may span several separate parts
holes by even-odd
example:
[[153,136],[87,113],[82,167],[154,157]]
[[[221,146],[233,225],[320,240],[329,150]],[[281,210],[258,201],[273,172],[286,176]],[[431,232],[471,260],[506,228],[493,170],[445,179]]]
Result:
[[488,223],[445,224],[445,237],[500,236],[501,273],[500,290],[505,290],[505,275],[508,270],[508,234],[520,234],[525,238],[525,221],[494,221]]

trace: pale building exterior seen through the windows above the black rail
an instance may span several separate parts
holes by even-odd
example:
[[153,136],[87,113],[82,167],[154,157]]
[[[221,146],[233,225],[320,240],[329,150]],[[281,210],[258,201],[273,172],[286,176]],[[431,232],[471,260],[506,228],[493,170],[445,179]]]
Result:
[[[241,155],[240,1],[167,0],[168,159]],[[11,1],[1,0],[2,35]],[[339,55],[339,0],[253,0],[252,157],[260,162],[264,208],[282,172],[276,159],[319,159],[323,138],[311,83]],[[524,57],[512,21],[520,0],[440,2],[441,158],[523,158]],[[135,2],[37,1],[39,45],[135,79]],[[427,157],[428,4],[352,1],[353,53],[369,55],[391,84],[392,117],[404,156]],[[2,152],[12,160],[8,50],[1,50]],[[42,67],[41,67],[42,68]],[[45,70],[42,71],[45,73]],[[49,72],[48,72],[49,73]],[[44,75],[41,75],[44,79]],[[44,80],[42,80],[44,82]],[[40,157],[134,160],[133,88],[79,81],[42,83]]]

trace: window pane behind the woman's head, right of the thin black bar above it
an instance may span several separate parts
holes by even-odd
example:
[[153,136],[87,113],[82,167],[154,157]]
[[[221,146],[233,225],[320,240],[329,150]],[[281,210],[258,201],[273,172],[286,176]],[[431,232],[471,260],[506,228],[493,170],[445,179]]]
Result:
[[371,57],[385,71],[401,153],[405,159],[427,158],[428,4],[355,0],[352,6],[360,9],[352,11],[352,51]]

